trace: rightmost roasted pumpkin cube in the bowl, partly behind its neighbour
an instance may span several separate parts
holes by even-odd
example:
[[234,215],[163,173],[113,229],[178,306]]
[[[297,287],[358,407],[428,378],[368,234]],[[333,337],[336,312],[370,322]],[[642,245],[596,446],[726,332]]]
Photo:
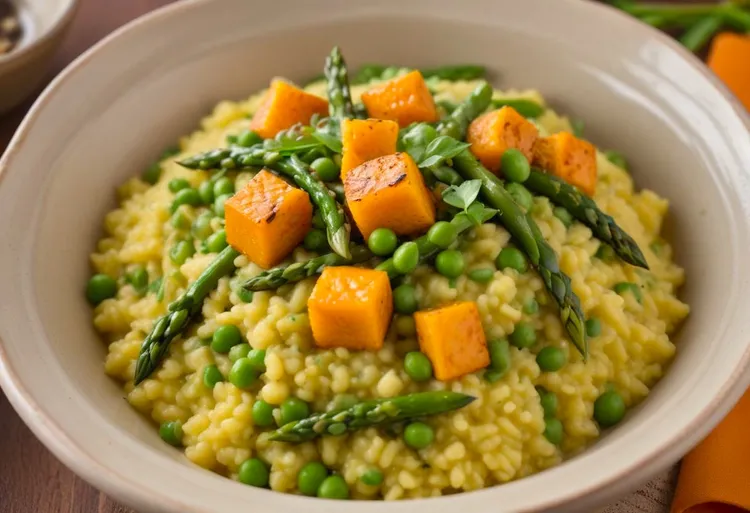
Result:
[[596,148],[570,132],[537,140],[534,165],[575,185],[589,196],[596,192]]

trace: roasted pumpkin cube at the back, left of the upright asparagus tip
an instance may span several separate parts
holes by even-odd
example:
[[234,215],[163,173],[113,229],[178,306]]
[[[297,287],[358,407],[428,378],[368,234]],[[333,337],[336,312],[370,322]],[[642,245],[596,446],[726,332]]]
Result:
[[253,115],[250,128],[269,139],[297,123],[309,124],[313,114],[328,114],[328,102],[277,78]]

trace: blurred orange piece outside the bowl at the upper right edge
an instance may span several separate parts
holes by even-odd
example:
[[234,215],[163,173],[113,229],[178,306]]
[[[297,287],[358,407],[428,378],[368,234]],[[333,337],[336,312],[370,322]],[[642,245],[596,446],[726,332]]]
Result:
[[708,66],[750,109],[750,34],[717,35],[711,44]]

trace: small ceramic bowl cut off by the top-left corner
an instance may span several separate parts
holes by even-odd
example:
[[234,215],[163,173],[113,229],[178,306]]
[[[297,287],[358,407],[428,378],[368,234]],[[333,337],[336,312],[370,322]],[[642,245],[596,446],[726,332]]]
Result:
[[11,0],[23,27],[21,40],[0,55],[0,114],[29,97],[73,21],[78,0]]

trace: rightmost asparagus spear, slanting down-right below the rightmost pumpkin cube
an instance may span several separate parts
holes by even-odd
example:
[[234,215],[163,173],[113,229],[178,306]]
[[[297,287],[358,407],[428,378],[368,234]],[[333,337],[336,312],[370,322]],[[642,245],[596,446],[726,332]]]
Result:
[[556,176],[531,170],[524,185],[532,192],[546,196],[560,205],[573,217],[588,226],[602,242],[606,242],[625,262],[648,269],[648,264],[638,244],[620,228],[614,219],[599,210],[596,203],[581,194],[575,187]]

